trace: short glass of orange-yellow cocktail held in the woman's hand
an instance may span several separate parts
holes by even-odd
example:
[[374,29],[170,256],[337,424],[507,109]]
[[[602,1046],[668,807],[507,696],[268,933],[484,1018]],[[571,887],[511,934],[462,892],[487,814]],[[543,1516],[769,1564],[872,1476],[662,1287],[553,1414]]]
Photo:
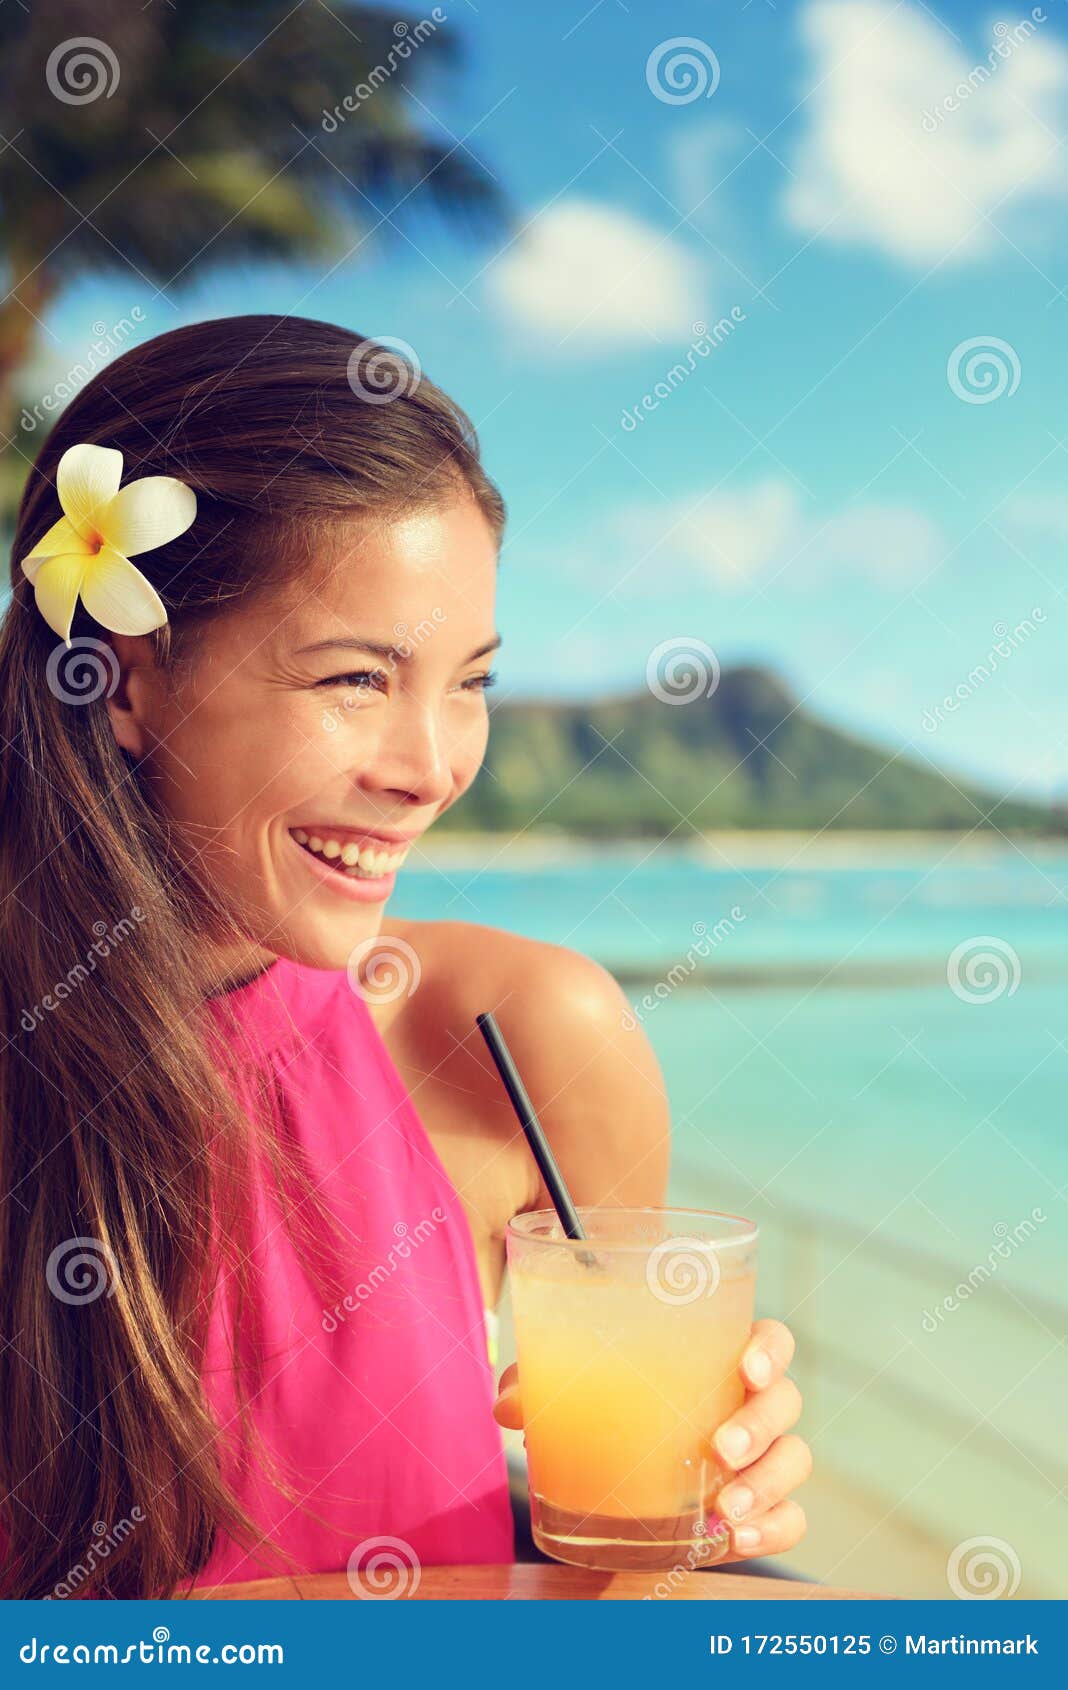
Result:
[[509,1225],[534,1541],[585,1567],[715,1560],[710,1440],[745,1394],[757,1229],[701,1210],[580,1217],[586,1244],[553,1210]]

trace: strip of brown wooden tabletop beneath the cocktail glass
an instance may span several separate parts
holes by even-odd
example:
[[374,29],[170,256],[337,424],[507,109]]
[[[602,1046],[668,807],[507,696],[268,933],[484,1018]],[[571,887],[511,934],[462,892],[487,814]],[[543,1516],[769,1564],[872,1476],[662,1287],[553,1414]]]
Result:
[[[357,1580],[367,1597],[385,1600],[389,1585]],[[275,1602],[357,1600],[346,1573],[311,1573],[306,1578],[260,1578],[257,1584],[213,1585],[196,1590],[203,1600],[237,1602],[248,1597]],[[402,1592],[406,1600],[455,1602],[634,1602],[642,1597],[683,1602],[865,1599],[865,1590],[835,1590],[830,1585],[799,1584],[794,1578],[755,1578],[747,1573],[695,1573],[668,1568],[662,1573],[598,1573],[586,1567],[548,1562],[515,1562],[510,1567],[421,1567]]]

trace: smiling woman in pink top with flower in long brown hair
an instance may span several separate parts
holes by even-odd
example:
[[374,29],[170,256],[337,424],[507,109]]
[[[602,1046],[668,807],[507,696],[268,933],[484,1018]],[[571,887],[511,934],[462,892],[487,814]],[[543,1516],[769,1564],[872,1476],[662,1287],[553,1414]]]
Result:
[[[483,759],[502,529],[431,382],[289,318],[127,352],[30,473],[0,632],[8,1597],[514,1553],[493,1415],[522,1404],[482,1320],[548,1193],[475,1014],[580,1203],[664,1200],[668,1107],[603,968],[385,916]],[[754,1328],[718,1433],[735,1558],[803,1531],[791,1350]]]

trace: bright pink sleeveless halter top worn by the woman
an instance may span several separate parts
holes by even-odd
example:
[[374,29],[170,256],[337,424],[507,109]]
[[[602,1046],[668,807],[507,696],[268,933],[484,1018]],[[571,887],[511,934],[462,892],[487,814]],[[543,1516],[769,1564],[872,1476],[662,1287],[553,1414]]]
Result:
[[[367,1004],[345,972],[286,958],[210,1000],[216,1016],[218,1004],[274,1068],[284,1142],[343,1227],[341,1257],[331,1240],[328,1261],[346,1288],[323,1306],[264,1183],[253,1268],[265,1354],[250,1364],[252,1416],[309,1513],[238,1436],[226,1296],[203,1367],[216,1423],[237,1438],[225,1477],[308,1572],[345,1570],[357,1550],[365,1565],[382,1540],[397,1540],[387,1556],[414,1563],[510,1562],[471,1232]],[[194,1584],[277,1572],[220,1538]]]

